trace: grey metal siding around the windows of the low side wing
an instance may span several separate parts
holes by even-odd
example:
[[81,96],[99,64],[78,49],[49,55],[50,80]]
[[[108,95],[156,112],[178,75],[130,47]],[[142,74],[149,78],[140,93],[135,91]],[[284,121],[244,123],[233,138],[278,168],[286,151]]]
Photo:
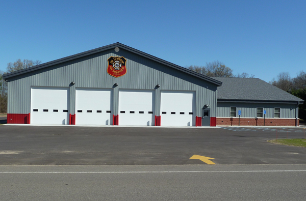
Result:
[[281,108],[281,118],[295,118],[296,104],[271,104],[271,103],[217,103],[216,117],[230,117],[230,107],[237,107],[241,110],[241,118],[256,118],[257,107],[263,107],[266,110],[266,118],[274,118],[274,108]]

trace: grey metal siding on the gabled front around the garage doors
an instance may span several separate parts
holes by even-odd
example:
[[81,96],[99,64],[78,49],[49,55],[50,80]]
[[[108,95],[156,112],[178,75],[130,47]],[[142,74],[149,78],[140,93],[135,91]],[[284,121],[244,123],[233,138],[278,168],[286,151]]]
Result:
[[[126,74],[113,77],[107,73],[107,59],[110,56],[124,56]],[[216,108],[215,84],[194,77],[179,70],[149,60],[135,53],[120,49],[107,50],[84,58],[75,59],[34,72],[18,75],[9,84],[8,113],[30,113],[31,86],[68,87],[70,86],[70,110],[75,113],[75,88],[113,88],[114,114],[118,114],[119,89],[155,89],[156,114],[160,115],[161,90],[187,90],[196,92],[196,116],[201,116],[201,108],[211,105],[212,117]],[[118,83],[114,87],[114,83]]]

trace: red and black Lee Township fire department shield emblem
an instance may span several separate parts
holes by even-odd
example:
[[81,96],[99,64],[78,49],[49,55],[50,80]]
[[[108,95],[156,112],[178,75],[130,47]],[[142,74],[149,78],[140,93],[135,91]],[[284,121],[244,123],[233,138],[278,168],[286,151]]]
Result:
[[111,76],[120,77],[126,73],[126,59],[123,56],[111,56],[107,61],[107,73]]

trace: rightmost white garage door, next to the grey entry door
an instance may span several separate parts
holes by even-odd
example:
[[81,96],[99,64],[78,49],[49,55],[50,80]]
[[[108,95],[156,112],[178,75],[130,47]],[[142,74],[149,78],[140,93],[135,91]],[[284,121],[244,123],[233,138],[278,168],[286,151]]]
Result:
[[161,92],[161,126],[195,126],[194,92]]

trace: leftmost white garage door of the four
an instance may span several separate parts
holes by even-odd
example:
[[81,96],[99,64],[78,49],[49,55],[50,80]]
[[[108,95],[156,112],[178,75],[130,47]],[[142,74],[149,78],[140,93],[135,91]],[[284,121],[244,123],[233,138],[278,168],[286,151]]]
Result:
[[69,124],[69,88],[31,88],[31,124]]

